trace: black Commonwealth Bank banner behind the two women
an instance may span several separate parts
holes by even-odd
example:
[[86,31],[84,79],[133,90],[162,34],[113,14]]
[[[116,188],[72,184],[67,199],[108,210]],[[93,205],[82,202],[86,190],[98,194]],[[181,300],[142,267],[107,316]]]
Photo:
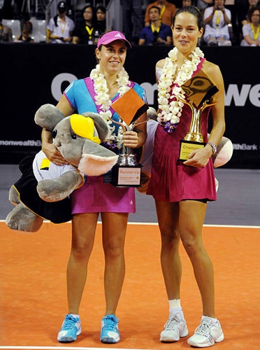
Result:
[[[157,108],[155,64],[171,48],[134,46],[125,68],[131,80],[147,92],[148,104]],[[233,158],[225,167],[260,169],[259,48],[201,48],[219,65],[225,85],[225,136],[233,142]],[[57,104],[71,83],[89,75],[96,64],[94,46],[1,43],[0,162],[17,163],[26,153],[41,148],[36,110]]]

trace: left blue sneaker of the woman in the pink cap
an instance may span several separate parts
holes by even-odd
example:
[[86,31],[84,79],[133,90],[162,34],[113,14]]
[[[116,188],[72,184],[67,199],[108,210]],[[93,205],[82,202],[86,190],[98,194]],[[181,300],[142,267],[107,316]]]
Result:
[[81,322],[80,318],[73,317],[72,315],[66,315],[62,323],[62,328],[58,333],[58,342],[70,343],[75,342],[77,335],[81,333]]

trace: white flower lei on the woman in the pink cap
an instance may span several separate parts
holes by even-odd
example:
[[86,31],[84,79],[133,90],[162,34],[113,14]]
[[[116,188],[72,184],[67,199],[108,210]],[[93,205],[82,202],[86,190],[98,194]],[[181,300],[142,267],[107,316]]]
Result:
[[[96,92],[95,104],[98,107],[99,115],[106,121],[108,124],[108,137],[105,142],[106,146],[110,148],[120,148],[119,144],[122,144],[122,132],[118,132],[117,135],[115,132],[115,126],[113,126],[112,113],[110,111],[110,106],[112,104],[110,96],[108,94],[108,86],[106,84],[106,77],[100,73],[100,65],[96,64],[96,68],[92,69],[90,72],[90,78],[94,81],[94,91]],[[119,86],[118,93],[120,97],[122,94],[127,92],[130,89],[131,82],[129,81],[129,75],[127,71],[122,67],[121,71],[118,73],[117,85]],[[122,129],[122,127],[120,127]]]

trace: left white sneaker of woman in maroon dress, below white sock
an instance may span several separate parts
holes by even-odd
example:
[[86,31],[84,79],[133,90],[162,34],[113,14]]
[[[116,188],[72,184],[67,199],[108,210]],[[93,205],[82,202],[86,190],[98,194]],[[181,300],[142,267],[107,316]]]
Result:
[[180,337],[188,335],[188,328],[185,318],[180,312],[170,314],[168,321],[164,325],[164,330],[161,332],[160,341],[171,343],[178,342]]

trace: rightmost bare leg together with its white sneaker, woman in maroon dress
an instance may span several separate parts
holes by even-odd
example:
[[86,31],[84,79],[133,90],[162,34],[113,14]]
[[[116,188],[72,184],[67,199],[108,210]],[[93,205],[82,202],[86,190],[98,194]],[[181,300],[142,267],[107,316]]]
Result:
[[205,251],[202,241],[202,227],[207,204],[186,200],[180,202],[180,238],[189,255],[194,269],[194,276],[201,292],[203,316],[201,324],[188,344],[196,347],[208,347],[215,342],[222,342],[224,334],[215,318],[214,272],[212,262]]

